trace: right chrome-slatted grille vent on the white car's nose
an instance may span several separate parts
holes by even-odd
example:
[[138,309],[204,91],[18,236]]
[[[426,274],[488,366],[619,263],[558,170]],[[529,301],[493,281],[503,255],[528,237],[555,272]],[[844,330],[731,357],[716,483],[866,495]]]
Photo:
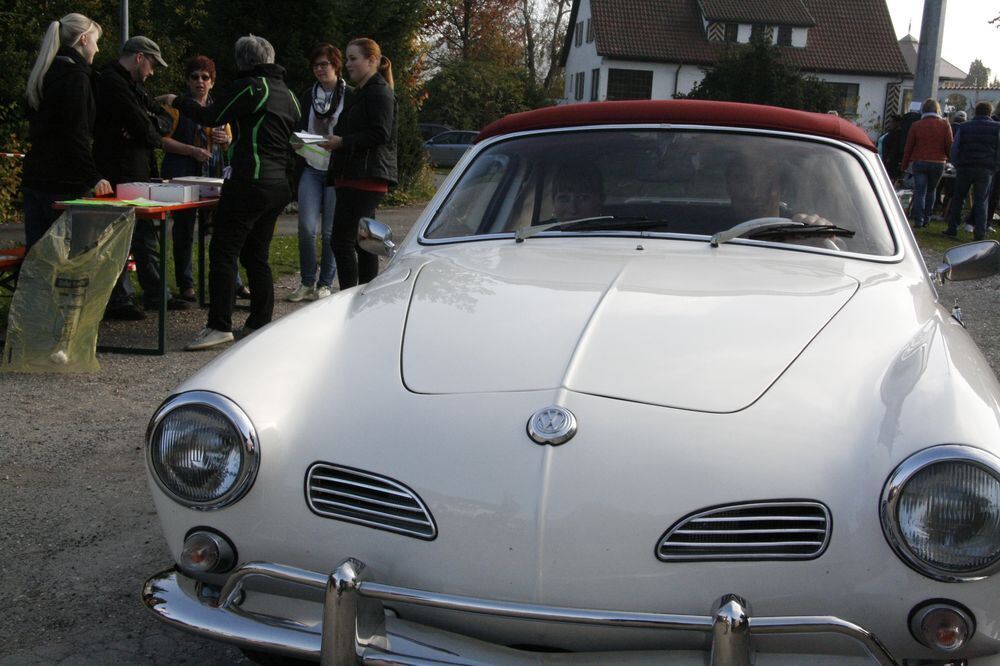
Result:
[[667,530],[656,546],[665,562],[811,560],[830,540],[830,512],[819,502],[746,502],[699,511]]

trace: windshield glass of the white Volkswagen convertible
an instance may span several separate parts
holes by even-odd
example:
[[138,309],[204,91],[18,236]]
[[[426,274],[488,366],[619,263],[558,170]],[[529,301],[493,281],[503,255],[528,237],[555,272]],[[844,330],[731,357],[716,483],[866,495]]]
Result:
[[[597,219],[593,219],[597,218]],[[423,236],[525,231],[705,236],[762,218],[830,225],[795,234],[772,222],[739,233],[891,255],[889,228],[859,160],[834,146],[731,132],[591,130],[511,139],[480,153]],[[527,229],[526,229],[527,228]],[[818,232],[818,233],[816,233]]]

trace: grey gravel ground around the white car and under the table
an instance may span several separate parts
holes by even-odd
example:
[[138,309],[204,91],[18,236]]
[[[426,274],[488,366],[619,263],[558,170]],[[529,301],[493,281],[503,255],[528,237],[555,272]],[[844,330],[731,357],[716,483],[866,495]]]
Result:
[[[929,266],[940,255],[928,253]],[[276,285],[276,315],[295,276]],[[994,370],[1000,278],[945,285]],[[92,375],[0,375],[0,665],[240,663],[234,648],[170,629],[142,608],[168,564],[146,488],[142,440],[154,409],[220,351],[185,353],[204,312],[171,312],[162,357],[100,355]],[[236,318],[237,325],[242,315]],[[152,324],[147,333],[152,340]],[[110,337],[135,324],[115,324]]]

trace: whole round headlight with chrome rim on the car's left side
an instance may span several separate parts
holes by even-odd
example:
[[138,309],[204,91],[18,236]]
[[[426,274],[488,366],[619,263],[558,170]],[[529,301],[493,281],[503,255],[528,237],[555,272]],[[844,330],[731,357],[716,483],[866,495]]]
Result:
[[146,449],[160,489],[192,509],[235,502],[257,475],[253,424],[217,393],[191,391],[164,403],[149,423]]

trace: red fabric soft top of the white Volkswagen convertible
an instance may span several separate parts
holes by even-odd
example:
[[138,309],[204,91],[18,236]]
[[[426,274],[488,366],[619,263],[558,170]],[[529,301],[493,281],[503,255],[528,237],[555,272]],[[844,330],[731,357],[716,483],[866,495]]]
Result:
[[862,148],[875,150],[875,145],[864,130],[832,114],[809,113],[759,104],[693,99],[591,102],[550,106],[501,118],[487,125],[476,140],[483,141],[500,134],[527,130],[629,123],[720,125],[799,132],[850,141]]

